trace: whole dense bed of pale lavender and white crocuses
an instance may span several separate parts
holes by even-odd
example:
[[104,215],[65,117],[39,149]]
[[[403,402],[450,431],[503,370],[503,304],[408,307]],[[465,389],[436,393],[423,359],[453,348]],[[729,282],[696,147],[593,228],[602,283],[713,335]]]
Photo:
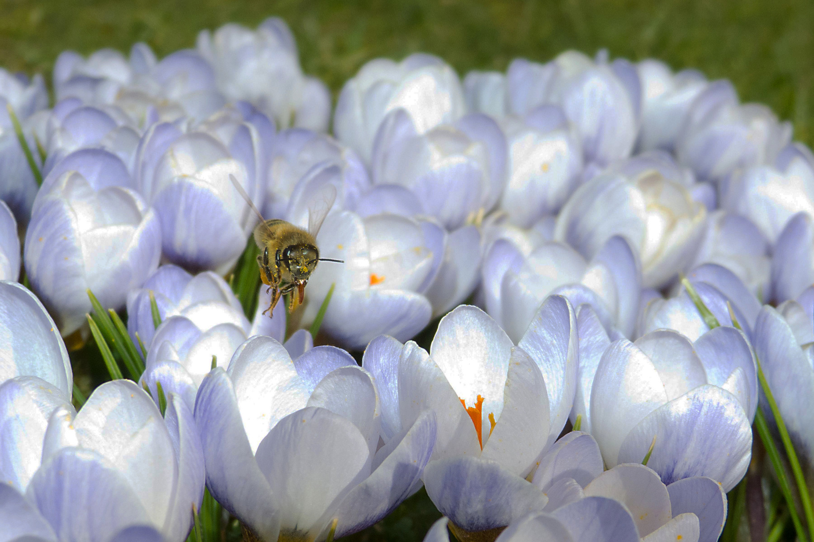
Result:
[[[729,82],[412,54],[331,110],[277,19],[53,81],[0,70],[0,540],[180,542],[213,498],[320,542],[426,488],[428,541],[714,541],[756,415],[814,466],[814,155]],[[327,185],[339,262],[269,318],[251,206]],[[142,366],[85,400],[97,302]]]

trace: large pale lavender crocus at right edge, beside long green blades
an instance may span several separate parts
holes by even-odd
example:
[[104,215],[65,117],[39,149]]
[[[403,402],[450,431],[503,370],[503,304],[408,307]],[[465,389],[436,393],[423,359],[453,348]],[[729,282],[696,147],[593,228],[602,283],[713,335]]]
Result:
[[[783,422],[795,448],[809,465],[814,464],[814,290],[808,288],[798,301],[786,301],[774,309],[764,306],[755,324],[755,355],[766,377]],[[768,404],[761,408],[771,416]]]

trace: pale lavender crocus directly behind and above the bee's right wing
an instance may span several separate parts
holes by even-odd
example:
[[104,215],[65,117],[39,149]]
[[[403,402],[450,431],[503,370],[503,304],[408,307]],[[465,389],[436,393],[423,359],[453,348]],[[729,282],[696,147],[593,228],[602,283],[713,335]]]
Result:
[[263,216],[284,218],[297,185],[318,175],[334,177],[336,205],[343,209],[356,210],[359,198],[370,189],[370,177],[354,150],[303,128],[279,132],[269,158]]

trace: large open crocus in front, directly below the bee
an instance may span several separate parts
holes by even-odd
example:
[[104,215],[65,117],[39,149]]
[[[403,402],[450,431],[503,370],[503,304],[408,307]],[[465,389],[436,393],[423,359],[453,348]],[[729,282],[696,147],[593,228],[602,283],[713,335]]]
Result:
[[263,540],[359,531],[420,487],[435,414],[395,435],[380,418],[374,379],[348,353],[317,346],[292,362],[264,336],[214,369],[195,404],[208,487]]

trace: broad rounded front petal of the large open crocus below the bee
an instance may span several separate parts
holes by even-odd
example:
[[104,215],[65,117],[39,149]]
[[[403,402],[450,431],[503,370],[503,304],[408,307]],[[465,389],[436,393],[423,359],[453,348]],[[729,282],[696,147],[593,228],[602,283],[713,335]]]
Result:
[[365,437],[350,420],[314,407],[282,418],[256,460],[278,502],[282,535],[320,531],[315,523],[330,504],[370,475]]

